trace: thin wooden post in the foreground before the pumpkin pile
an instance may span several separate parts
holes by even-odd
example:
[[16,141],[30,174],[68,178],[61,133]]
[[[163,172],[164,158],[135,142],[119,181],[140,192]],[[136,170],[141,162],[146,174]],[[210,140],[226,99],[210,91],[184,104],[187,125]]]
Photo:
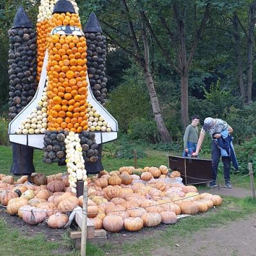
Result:
[[86,256],[87,205],[88,205],[88,187],[84,186],[83,212],[82,212],[83,215],[82,215],[81,256]]

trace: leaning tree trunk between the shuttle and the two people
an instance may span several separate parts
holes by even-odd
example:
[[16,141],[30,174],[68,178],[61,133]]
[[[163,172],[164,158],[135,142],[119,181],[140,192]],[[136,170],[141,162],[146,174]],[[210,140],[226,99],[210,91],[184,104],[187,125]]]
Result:
[[156,94],[152,74],[150,73],[150,70],[148,68],[144,68],[143,75],[145,78],[145,82],[147,84],[148,93],[150,95],[150,102],[152,105],[157,128],[160,132],[163,142],[169,143],[171,141],[170,134],[166,128],[166,125],[164,124],[163,116],[161,115],[161,109],[160,109],[159,102],[157,99],[157,94]]

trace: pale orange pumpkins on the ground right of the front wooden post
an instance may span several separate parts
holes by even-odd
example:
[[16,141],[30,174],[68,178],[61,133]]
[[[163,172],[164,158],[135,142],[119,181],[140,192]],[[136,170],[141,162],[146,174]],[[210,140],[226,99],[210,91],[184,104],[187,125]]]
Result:
[[[143,170],[141,179],[145,178],[143,173],[152,177],[168,174],[166,166],[146,167]],[[160,223],[173,224],[179,214],[206,212],[222,203],[218,195],[199,195],[195,186],[173,184],[172,179],[165,179],[164,182],[150,179],[146,184],[133,182],[140,178],[132,174],[134,172],[138,173],[138,170],[123,166],[118,171],[100,172],[98,177],[88,179],[88,216],[95,229],[138,231]],[[176,171],[170,175],[179,173]],[[83,196],[80,196],[79,205],[82,204]]]

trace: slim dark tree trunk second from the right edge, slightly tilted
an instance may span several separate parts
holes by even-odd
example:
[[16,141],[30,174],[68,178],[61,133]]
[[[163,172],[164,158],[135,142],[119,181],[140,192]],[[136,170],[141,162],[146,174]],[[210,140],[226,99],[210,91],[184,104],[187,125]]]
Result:
[[245,87],[244,87],[244,79],[243,79],[243,64],[241,59],[241,47],[240,47],[240,36],[239,36],[239,29],[238,29],[238,20],[237,15],[235,14],[232,23],[235,29],[234,38],[236,42],[236,60],[237,60],[237,72],[239,78],[239,88],[241,98],[245,100]]

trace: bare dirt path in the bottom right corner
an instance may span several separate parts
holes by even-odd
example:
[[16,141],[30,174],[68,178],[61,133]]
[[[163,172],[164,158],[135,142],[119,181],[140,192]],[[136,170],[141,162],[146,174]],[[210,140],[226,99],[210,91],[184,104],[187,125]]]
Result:
[[[256,214],[246,220],[228,223],[218,228],[207,228],[190,237],[173,240],[170,248],[152,252],[157,256],[255,256]],[[177,246],[176,244],[179,244]]]

